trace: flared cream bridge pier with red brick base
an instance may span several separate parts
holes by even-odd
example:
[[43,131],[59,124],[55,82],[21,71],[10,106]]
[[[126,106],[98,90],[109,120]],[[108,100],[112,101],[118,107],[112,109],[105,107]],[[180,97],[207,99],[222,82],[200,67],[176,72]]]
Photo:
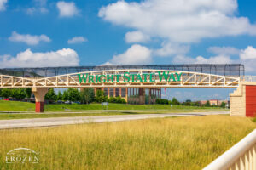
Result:
[[47,92],[48,88],[32,88],[36,99],[36,112],[44,112],[44,96]]

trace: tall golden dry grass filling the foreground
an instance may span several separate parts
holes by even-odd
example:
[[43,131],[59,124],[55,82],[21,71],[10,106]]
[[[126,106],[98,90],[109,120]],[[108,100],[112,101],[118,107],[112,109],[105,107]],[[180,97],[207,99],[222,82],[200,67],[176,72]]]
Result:
[[[2,130],[0,167],[201,169],[255,127],[248,118],[189,116]],[[18,147],[39,151],[39,163],[6,164],[6,153]]]

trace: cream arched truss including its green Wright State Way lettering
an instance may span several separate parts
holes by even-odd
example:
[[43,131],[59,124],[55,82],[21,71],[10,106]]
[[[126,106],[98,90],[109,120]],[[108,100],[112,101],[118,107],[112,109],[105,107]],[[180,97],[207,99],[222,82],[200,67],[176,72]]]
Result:
[[0,88],[236,88],[239,76],[163,69],[82,71],[53,77],[0,75]]

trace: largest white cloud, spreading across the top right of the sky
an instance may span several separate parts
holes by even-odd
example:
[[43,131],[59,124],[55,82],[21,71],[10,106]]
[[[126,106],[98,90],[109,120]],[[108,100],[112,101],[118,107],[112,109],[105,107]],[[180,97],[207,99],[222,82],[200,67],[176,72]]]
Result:
[[202,38],[256,34],[247,17],[236,16],[236,0],[118,1],[102,7],[99,16],[149,37],[170,42],[199,42]]

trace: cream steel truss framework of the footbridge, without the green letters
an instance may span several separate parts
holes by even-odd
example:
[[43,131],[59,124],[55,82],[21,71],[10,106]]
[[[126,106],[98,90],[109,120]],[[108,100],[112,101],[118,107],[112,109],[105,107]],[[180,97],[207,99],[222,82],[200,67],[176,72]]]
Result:
[[[169,72],[169,74],[182,74],[180,81],[160,81],[158,72]],[[119,82],[79,82],[78,74],[96,75],[120,75],[125,72],[132,74],[155,74],[154,82],[125,82],[121,77]],[[115,77],[116,78],[116,77]],[[149,77],[147,77],[147,80]],[[84,71],[72,74],[58,75],[54,77],[15,77],[0,75],[0,88],[237,88],[240,77],[222,76],[193,71],[170,71],[157,69],[126,69],[126,70],[104,70]]]

